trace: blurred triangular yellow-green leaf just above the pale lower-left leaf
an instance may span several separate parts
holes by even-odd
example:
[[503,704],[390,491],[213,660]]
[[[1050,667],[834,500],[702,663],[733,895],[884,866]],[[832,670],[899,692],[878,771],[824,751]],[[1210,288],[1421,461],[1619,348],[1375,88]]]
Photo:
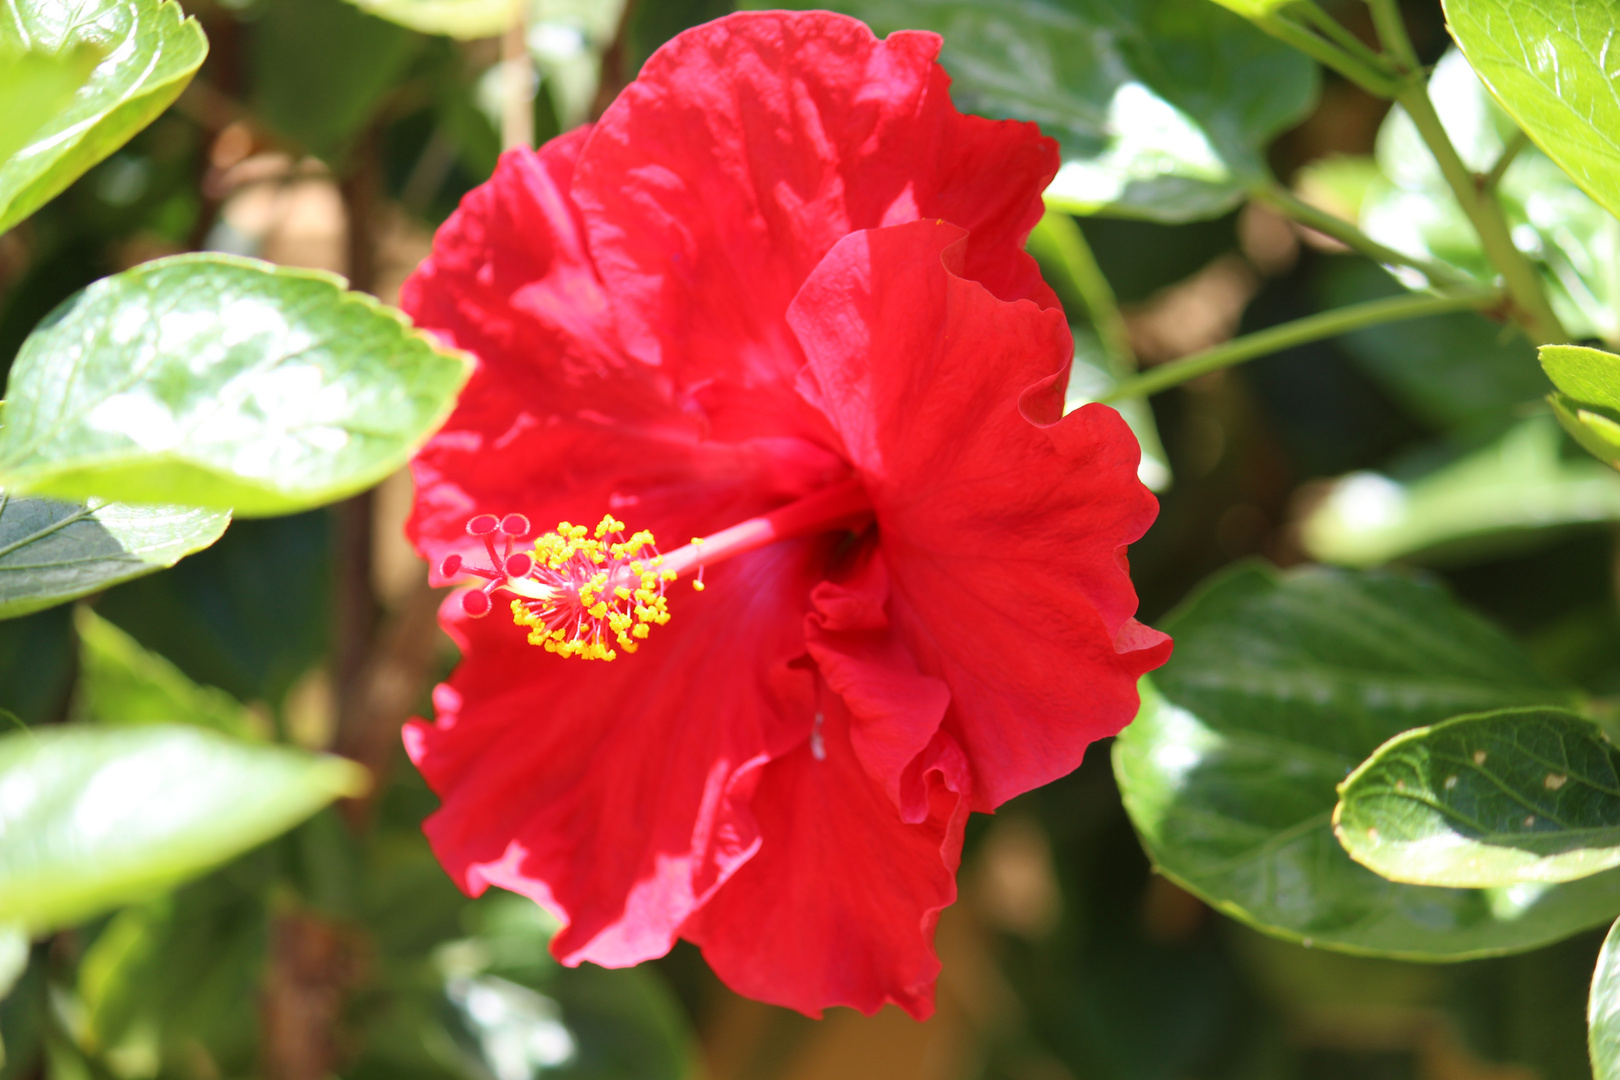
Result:
[[76,612],[79,680],[75,719],[112,727],[196,724],[253,737],[261,724],[230,695],[198,687],[157,653],[147,653],[87,607]]

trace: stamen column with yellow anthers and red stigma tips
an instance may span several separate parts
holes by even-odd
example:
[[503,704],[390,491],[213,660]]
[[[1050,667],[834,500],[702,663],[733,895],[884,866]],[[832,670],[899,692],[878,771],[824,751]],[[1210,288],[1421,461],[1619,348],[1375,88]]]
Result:
[[692,588],[703,591],[703,568],[782,539],[850,525],[872,513],[860,483],[850,476],[799,502],[748,518],[711,536],[695,538],[667,555],[646,529],[625,536],[624,521],[606,515],[595,529],[561,521],[535,541],[533,551],[514,551],[530,534],[522,513],[497,518],[480,513],[467,533],[483,541],[488,567],[444,557],[439,572],[454,578],[484,578],[462,593],[462,610],[481,619],[494,609],[494,593],[512,596],[512,622],[528,627],[528,643],[557,656],[611,661],[617,648],[635,653],[654,625],[669,622],[664,586],[695,572]]

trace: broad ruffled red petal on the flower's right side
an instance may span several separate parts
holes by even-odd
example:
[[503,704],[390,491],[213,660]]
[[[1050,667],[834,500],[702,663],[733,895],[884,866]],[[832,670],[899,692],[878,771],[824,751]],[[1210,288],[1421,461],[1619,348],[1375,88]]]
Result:
[[876,510],[891,619],[949,687],[991,810],[1124,727],[1170,644],[1131,619],[1124,546],[1157,512],[1136,439],[1102,405],[1029,419],[1061,400],[1063,313],[995,298],[962,259],[953,225],[852,233],[787,319]]

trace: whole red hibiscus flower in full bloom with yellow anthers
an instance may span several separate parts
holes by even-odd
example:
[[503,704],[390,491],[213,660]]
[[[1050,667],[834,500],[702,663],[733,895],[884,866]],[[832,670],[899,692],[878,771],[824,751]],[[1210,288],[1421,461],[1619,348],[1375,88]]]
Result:
[[1061,416],[1022,251],[1056,149],[959,115],[938,47],[688,31],[502,157],[405,285],[478,359],[410,534],[488,578],[405,735],[426,832],[554,912],[564,963],[685,938],[753,997],[927,1015],[969,810],[1074,769],[1170,653],[1132,619],[1136,440]]

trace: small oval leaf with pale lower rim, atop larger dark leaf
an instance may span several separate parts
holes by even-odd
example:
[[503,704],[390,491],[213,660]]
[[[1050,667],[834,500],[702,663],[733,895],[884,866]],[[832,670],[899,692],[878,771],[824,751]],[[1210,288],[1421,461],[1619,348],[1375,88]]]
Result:
[[1340,784],[1333,832],[1390,881],[1489,889],[1620,866],[1620,751],[1563,709],[1396,735]]

